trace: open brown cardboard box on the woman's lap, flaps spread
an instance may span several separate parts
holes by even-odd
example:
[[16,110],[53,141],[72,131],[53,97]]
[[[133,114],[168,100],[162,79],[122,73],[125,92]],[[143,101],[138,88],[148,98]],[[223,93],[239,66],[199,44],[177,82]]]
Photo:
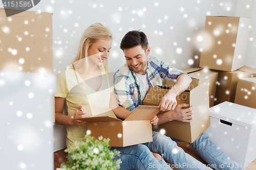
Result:
[[110,108],[82,106],[92,116],[79,118],[87,121],[91,136],[110,138],[110,147],[127,147],[153,141],[150,120],[159,112],[158,106],[139,106],[123,121]]

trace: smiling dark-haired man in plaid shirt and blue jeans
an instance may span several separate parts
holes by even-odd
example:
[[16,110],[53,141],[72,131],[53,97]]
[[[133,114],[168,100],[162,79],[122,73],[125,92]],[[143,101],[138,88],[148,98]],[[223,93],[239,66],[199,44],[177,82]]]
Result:
[[[158,115],[158,125],[172,120],[191,122],[194,107],[182,109],[188,104],[177,105],[176,101],[176,96],[189,86],[191,78],[185,72],[171,67],[168,63],[156,57],[148,56],[151,48],[148,46],[147,37],[143,32],[130,31],[125,34],[120,48],[123,50],[126,63],[114,75],[115,93],[119,105],[133,111],[142,105],[150,87],[161,86],[162,79],[166,79],[175,82],[175,85],[164,95],[159,104],[160,110],[168,110],[168,112]],[[188,165],[195,165],[195,163],[199,165],[195,158],[185,154],[181,148],[177,147],[175,141],[178,140],[153,131],[153,142],[143,144],[152,152],[163,154],[164,158],[174,165],[180,162]],[[215,169],[244,169],[219,150],[204,133],[191,143],[191,146]],[[234,166],[231,166],[232,164]],[[205,168],[201,164],[200,166]],[[178,169],[186,168],[183,166]],[[198,169],[200,169],[199,166]]]

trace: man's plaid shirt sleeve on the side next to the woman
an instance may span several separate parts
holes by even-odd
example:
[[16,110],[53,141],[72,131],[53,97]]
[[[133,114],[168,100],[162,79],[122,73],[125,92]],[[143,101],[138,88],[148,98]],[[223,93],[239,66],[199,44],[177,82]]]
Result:
[[138,107],[138,104],[134,99],[132,88],[125,76],[117,76],[115,74],[114,87],[118,104],[129,111],[134,111]]

